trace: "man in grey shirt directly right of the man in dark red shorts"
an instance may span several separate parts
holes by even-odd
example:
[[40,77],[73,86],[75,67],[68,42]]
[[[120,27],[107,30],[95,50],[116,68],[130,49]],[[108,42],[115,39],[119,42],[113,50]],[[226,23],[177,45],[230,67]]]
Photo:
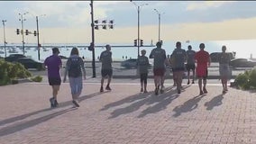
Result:
[[187,53],[185,49],[181,49],[181,42],[176,42],[176,49],[171,54],[171,61],[173,67],[173,75],[176,76],[177,92],[180,94],[182,77],[185,70],[185,60],[187,59]]

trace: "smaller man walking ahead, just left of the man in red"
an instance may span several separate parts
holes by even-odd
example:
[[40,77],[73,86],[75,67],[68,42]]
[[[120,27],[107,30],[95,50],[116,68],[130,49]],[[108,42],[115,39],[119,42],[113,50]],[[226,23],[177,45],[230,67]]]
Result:
[[192,84],[195,84],[195,55],[196,51],[192,50],[192,46],[187,46],[187,85],[190,84],[190,70],[192,70]]

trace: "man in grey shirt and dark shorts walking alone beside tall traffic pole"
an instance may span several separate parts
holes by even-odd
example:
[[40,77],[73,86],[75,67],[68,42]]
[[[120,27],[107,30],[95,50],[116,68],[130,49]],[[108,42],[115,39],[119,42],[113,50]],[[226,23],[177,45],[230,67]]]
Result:
[[103,51],[100,54],[99,60],[102,62],[101,67],[101,86],[100,86],[100,92],[104,92],[103,85],[104,85],[104,79],[107,77],[107,85],[105,87],[106,90],[111,90],[110,88],[110,82],[113,75],[113,68],[112,68],[112,52],[111,52],[111,46],[105,45],[105,51]]

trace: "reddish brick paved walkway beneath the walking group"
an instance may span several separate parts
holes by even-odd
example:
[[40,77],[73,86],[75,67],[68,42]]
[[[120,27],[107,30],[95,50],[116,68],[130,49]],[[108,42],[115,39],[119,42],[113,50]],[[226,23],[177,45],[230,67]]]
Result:
[[85,83],[80,107],[72,108],[69,84],[61,85],[59,107],[50,109],[47,83],[0,87],[1,144],[242,144],[256,143],[256,94],[221,85],[171,84],[164,94],[139,94],[136,83],[114,83],[98,93]]

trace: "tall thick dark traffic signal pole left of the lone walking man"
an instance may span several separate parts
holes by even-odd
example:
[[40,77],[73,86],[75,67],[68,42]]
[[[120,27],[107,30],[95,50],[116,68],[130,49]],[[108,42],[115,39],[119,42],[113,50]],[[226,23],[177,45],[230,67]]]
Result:
[[93,0],[91,0],[91,27],[92,27],[92,42],[91,42],[91,47],[92,47],[92,67],[93,67],[93,77],[96,77],[96,56],[95,56],[95,24],[94,24],[94,5],[93,5]]

